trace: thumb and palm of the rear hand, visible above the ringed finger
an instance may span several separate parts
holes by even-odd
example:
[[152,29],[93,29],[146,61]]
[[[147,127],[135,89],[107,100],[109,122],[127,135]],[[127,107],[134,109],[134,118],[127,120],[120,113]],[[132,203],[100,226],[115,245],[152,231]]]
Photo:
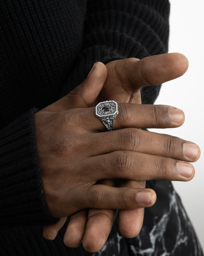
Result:
[[140,88],[181,77],[188,64],[188,59],[181,53],[111,61],[106,64],[107,79],[96,104],[107,100],[139,104]]

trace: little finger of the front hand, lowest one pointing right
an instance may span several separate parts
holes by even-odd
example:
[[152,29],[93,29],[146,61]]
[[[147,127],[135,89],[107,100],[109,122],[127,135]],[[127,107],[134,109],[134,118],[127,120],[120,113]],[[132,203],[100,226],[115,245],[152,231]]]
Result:
[[[141,200],[142,195],[143,200]],[[152,206],[155,200],[156,194],[149,188],[112,188],[106,185],[78,186],[70,188],[67,195],[65,194],[61,199],[60,204],[63,205],[63,209],[60,209],[60,215],[69,216],[87,208],[144,208]]]

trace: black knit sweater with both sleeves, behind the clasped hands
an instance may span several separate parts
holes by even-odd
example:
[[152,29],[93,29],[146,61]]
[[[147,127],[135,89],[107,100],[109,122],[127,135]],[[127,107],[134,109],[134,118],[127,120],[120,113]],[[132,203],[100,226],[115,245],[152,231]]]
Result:
[[[168,17],[168,0],[0,1],[0,229],[56,222],[43,196],[34,113],[97,61],[167,53]],[[159,89],[143,88],[143,103]]]

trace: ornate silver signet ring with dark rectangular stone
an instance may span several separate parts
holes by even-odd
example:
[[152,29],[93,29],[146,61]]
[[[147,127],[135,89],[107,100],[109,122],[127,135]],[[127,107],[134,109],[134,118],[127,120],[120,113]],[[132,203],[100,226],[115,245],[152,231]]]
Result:
[[114,130],[113,120],[118,115],[118,104],[116,101],[103,101],[96,106],[96,116],[101,119],[107,130]]

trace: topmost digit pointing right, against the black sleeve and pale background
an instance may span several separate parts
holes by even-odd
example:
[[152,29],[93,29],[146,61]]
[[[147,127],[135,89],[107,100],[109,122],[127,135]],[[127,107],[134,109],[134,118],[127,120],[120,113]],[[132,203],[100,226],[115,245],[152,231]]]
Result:
[[[188,59],[181,53],[166,53],[143,58],[125,59],[117,62],[123,72],[123,82],[129,89],[162,84],[181,77],[188,69]],[[124,72],[125,71],[125,72]],[[128,89],[128,88],[127,88]]]

